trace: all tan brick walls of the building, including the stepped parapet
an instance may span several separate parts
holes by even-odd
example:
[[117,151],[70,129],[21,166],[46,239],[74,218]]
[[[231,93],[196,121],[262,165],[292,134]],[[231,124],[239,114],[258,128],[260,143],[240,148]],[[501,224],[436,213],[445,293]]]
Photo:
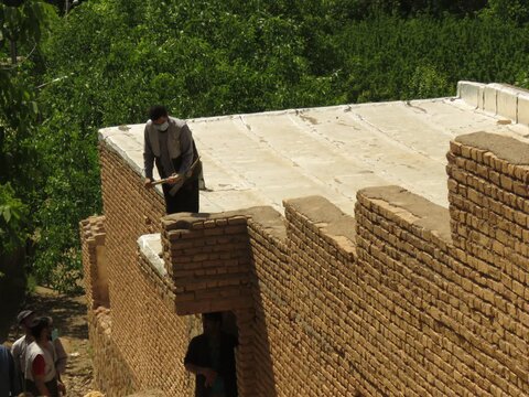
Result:
[[[191,395],[181,360],[199,326],[188,314],[225,310],[238,328],[240,396],[529,393],[527,144],[460,137],[449,210],[369,187],[354,218],[314,196],[285,201],[284,217],[256,207],[160,223],[160,197],[115,153],[101,157],[115,348],[105,352],[131,368],[134,388]],[[136,243],[156,228],[162,273]],[[89,249],[84,260],[91,269]]]

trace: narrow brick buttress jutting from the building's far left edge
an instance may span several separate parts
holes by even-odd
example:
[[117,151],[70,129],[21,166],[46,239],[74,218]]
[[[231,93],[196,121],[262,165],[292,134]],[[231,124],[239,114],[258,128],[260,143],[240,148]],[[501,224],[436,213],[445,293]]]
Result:
[[104,224],[105,216],[90,216],[79,224],[83,243],[83,272],[89,309],[96,309],[100,305],[108,307],[108,276],[106,275],[106,268],[102,269],[106,264],[101,264],[101,250],[105,250]]

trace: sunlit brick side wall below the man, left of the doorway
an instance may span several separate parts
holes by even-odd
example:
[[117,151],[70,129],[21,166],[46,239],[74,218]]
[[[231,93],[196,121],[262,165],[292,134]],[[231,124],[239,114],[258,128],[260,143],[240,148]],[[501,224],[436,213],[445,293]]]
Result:
[[[88,320],[94,330],[90,341],[95,345],[96,383],[109,396],[123,396],[123,390],[129,393],[155,388],[162,382],[164,385],[171,383],[164,390],[179,390],[185,395],[194,380],[182,368],[185,353],[182,352],[191,335],[198,333],[199,321],[196,316],[177,316],[173,310],[174,303],[173,307],[168,307],[168,301],[174,301],[171,300],[172,291],[168,287],[163,289],[163,282],[154,283],[152,273],[141,266],[145,259],[139,254],[137,243],[139,236],[161,230],[163,197],[154,190],[144,189],[141,176],[104,142],[100,146],[100,161],[104,242],[111,307],[107,316],[111,318],[111,329],[107,329],[107,339],[104,340],[100,330],[102,325],[98,320],[100,316],[89,311]],[[89,276],[86,277],[87,286],[93,286],[97,278],[91,269],[97,260],[87,227],[85,222],[82,229],[84,266],[88,270],[85,271],[85,277]],[[93,300],[91,290],[93,288],[87,288],[89,301]],[[97,304],[93,305],[96,307]],[[165,346],[166,339],[169,341]],[[107,352],[114,352],[119,363],[132,368],[133,376],[130,378],[133,382],[127,380],[127,376],[119,377],[107,371]],[[163,353],[162,356],[159,352]]]

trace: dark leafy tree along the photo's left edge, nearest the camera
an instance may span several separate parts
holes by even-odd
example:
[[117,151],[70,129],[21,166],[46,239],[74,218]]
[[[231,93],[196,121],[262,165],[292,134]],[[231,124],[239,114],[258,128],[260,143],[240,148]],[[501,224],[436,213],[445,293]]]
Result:
[[0,3],[0,273],[13,261],[23,266],[31,221],[28,205],[37,195],[33,133],[39,111],[31,55],[51,15],[51,8],[40,1],[8,3]]

